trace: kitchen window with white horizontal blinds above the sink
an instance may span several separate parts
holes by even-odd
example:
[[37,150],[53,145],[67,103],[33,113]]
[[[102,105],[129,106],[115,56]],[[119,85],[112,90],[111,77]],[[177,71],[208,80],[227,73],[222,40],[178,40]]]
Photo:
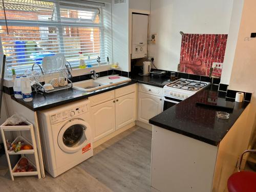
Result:
[[[8,73],[31,70],[42,58],[65,54],[73,68],[82,58],[87,65],[112,58],[110,6],[89,1],[4,0],[0,4],[0,37]],[[9,34],[7,34],[9,32]],[[53,64],[54,65],[54,64]]]

